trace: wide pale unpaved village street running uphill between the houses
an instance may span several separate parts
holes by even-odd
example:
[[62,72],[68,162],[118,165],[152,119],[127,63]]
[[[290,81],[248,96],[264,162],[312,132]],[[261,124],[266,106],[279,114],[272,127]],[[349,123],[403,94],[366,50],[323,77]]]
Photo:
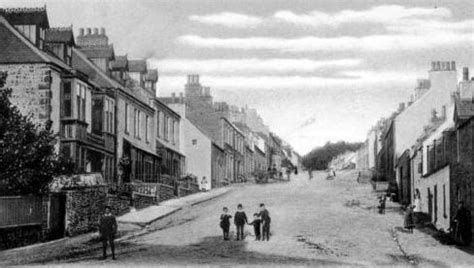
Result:
[[[357,172],[351,171],[326,180],[325,174],[318,173],[309,181],[307,174],[301,174],[289,183],[236,186],[224,196],[153,223],[147,233],[120,241],[116,261],[99,260],[98,242],[87,242],[82,247],[69,245],[69,250],[67,246],[56,250],[44,246],[42,252],[50,256],[2,261],[81,266],[474,265],[472,252],[441,245],[419,231],[402,232],[402,215],[394,204],[389,203],[387,214],[377,214],[370,184],[357,184],[356,177]],[[237,204],[242,203],[247,215],[252,215],[261,202],[272,217],[270,242],[254,241],[252,226],[246,228],[245,241],[222,241],[218,224],[222,207],[228,206],[234,213]],[[232,238],[234,234],[232,230]]]

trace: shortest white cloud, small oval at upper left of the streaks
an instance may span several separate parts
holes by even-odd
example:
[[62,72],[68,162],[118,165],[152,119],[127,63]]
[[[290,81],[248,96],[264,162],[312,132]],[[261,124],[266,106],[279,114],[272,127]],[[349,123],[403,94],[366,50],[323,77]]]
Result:
[[263,22],[263,19],[259,17],[232,12],[222,12],[203,16],[192,15],[189,16],[189,20],[209,25],[220,25],[232,28],[255,27]]

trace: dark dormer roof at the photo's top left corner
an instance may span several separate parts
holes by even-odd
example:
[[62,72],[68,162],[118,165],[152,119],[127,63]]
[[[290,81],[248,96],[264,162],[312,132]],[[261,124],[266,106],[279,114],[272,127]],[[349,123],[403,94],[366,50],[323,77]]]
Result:
[[48,28],[48,14],[46,6],[39,8],[0,8],[0,15],[4,16],[12,25],[39,24]]

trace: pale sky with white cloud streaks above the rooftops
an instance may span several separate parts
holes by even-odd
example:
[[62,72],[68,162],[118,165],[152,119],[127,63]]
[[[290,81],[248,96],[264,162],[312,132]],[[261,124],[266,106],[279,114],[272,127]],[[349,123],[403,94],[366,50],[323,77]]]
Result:
[[364,141],[431,61],[474,67],[474,1],[1,0],[46,4],[52,27],[105,27],[117,55],[158,68],[159,96],[200,74],[216,101],[256,108],[305,154]]

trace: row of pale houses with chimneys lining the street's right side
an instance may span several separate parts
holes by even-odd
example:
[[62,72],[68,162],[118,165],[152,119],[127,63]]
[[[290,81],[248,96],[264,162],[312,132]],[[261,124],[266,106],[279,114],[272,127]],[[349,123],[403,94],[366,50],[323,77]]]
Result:
[[432,62],[408,103],[380,120],[358,152],[359,168],[388,181],[402,204],[419,195],[422,211],[438,229],[454,228],[463,202],[474,215],[474,79],[455,62]]

